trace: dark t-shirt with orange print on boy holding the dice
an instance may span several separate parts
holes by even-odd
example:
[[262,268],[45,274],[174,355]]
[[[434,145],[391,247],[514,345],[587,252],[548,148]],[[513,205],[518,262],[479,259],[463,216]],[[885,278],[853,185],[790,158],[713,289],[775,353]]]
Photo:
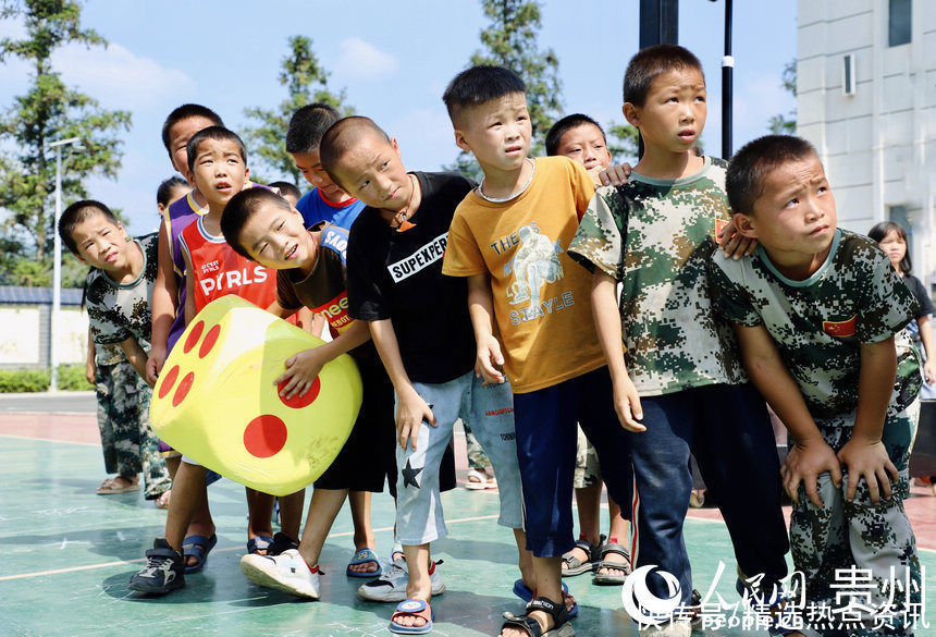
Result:
[[[347,330],[354,319],[348,315],[347,253],[348,231],[324,221],[309,229],[320,232],[316,266],[308,277],[298,269],[276,272],[276,301],[286,309],[308,307],[322,315],[329,323],[332,338]],[[375,351],[370,341],[355,347],[355,358],[371,358]]]

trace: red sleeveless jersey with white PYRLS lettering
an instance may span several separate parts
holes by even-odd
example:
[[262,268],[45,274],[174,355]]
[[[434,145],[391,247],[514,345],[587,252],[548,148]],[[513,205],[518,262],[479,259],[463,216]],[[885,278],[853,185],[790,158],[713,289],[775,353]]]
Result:
[[180,235],[188,255],[195,283],[195,311],[227,294],[236,294],[261,309],[276,301],[276,272],[242,257],[223,236],[205,230],[205,217],[189,223]]

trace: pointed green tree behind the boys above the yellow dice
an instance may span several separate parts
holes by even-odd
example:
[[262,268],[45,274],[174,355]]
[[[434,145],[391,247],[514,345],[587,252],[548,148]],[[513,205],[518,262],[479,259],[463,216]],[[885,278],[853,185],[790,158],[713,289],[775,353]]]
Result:
[[[322,68],[312,51],[312,40],[305,36],[288,39],[290,52],[283,58],[280,84],[286,87],[288,97],[275,109],[253,107],[244,109],[244,114],[256,125],[244,130],[250,154],[260,158],[260,164],[279,177],[286,177],[294,184],[301,184],[301,173],[286,152],[283,139],[290,126],[290,119],[296,109],[315,102],[324,102],[338,109],[343,114],[354,113],[344,103],[343,88],[334,94],[329,90],[330,73]],[[270,180],[276,181],[276,180]]]

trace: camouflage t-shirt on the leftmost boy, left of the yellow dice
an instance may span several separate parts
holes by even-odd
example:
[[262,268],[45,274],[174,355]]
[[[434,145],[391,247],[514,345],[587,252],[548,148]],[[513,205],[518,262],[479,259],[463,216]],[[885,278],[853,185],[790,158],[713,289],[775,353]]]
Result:
[[152,322],[149,301],[156,283],[158,234],[135,240],[143,249],[143,270],[130,283],[115,283],[106,272],[91,269],[87,279],[88,320],[95,343],[120,343],[136,336],[149,350]]

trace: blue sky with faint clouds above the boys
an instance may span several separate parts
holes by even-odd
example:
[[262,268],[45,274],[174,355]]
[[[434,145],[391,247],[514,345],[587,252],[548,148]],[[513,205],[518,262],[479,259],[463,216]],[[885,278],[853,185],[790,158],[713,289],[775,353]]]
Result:
[[[709,82],[703,144],[714,155],[721,154],[724,10],[724,0],[682,0],[679,8],[679,44],[699,56]],[[449,163],[457,148],[442,91],[485,26],[476,0],[278,1],[262,11],[241,0],[97,1],[84,5],[82,17],[111,46],[67,47],[53,64],[66,84],[103,107],[133,112],[119,179],[88,185],[93,197],[124,210],[135,233],[156,226],[156,187],[172,174],[160,140],[169,111],[186,101],[205,103],[239,131],[245,108],[273,107],[285,97],[276,76],[291,35],[312,39],[331,72],[330,87],[345,88],[359,114],[397,137],[408,168]],[[796,2],[735,2],[734,23],[737,149],[766,132],[771,115],[796,106],[780,88],[784,64],[796,56]],[[637,52],[638,30],[638,0],[543,3],[540,46],[558,56],[566,112],[623,122],[620,81]],[[21,25],[0,23],[0,37],[19,35]],[[27,84],[24,64],[0,65],[0,108]]]

